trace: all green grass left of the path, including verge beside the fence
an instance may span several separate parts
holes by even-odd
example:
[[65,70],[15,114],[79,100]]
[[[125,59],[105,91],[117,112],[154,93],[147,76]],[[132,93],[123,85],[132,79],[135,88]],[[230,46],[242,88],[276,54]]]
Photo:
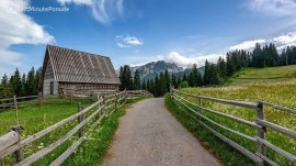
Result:
[[[75,152],[75,154],[72,154],[72,156],[70,156],[64,163],[64,165],[98,165],[98,162],[101,163],[112,141],[112,136],[118,125],[118,118],[125,113],[124,110],[127,107],[134,102],[139,101],[140,99],[144,98],[128,100],[119,109],[119,111],[115,111],[113,114],[104,118],[100,125],[94,129],[90,129],[90,126],[94,123],[95,119],[92,119],[89,123],[87,123],[84,126],[87,140]],[[15,114],[13,110],[0,113],[0,135],[7,133],[7,130],[10,128],[10,125],[20,124],[25,128],[25,131],[22,134],[22,139],[25,139],[29,135],[32,135],[52,124],[59,122],[65,118],[68,118],[73,113],[77,113],[78,102],[81,102],[86,107],[92,103],[91,100],[46,99],[44,106],[38,107],[36,101],[25,102],[19,109],[19,118],[16,122],[14,120]],[[110,112],[111,110],[112,109],[106,111]],[[95,109],[90,110],[86,114],[86,118],[94,111]],[[77,125],[76,120],[29,144],[23,148],[25,157],[54,143],[60,136],[69,132],[75,125]],[[50,162],[57,158],[77,140],[78,135],[75,134],[70,137],[70,140],[62,143],[59,147],[47,154],[45,157],[38,159],[33,165],[49,165]],[[4,166],[13,165],[14,163],[15,162],[13,155],[5,157],[2,162]]]

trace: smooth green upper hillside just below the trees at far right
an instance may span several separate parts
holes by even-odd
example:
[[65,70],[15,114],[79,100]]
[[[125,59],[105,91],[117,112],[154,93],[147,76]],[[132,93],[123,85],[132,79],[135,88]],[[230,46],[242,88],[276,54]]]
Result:
[[230,85],[241,85],[251,82],[277,82],[296,78],[296,65],[265,67],[265,68],[244,68],[237,71],[229,78]]

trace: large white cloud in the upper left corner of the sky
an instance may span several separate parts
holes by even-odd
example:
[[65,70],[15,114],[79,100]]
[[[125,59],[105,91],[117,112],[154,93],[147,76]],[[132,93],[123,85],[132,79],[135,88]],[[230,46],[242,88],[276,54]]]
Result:
[[[18,44],[47,44],[55,38],[44,27],[23,11],[27,8],[27,0],[1,0],[0,1],[0,66],[15,68],[15,62],[23,56],[11,51],[12,45]],[[3,75],[3,73],[0,73]]]

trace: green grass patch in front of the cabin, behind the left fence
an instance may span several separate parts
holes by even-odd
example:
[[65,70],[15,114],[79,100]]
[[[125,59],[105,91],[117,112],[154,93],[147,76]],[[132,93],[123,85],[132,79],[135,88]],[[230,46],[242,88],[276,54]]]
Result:
[[27,101],[19,106],[18,120],[15,121],[14,109],[0,113],[0,135],[7,133],[11,125],[21,125],[25,129],[22,137],[34,134],[46,126],[77,113],[78,102],[83,106],[92,103],[91,100],[69,100],[59,98],[48,98],[44,100],[42,107],[37,106],[36,100]]

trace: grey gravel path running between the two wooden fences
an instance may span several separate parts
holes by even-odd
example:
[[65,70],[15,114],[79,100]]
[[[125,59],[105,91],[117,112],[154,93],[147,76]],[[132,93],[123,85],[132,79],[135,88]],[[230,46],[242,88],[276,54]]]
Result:
[[121,119],[104,166],[219,166],[167,110],[163,98],[140,101]]

